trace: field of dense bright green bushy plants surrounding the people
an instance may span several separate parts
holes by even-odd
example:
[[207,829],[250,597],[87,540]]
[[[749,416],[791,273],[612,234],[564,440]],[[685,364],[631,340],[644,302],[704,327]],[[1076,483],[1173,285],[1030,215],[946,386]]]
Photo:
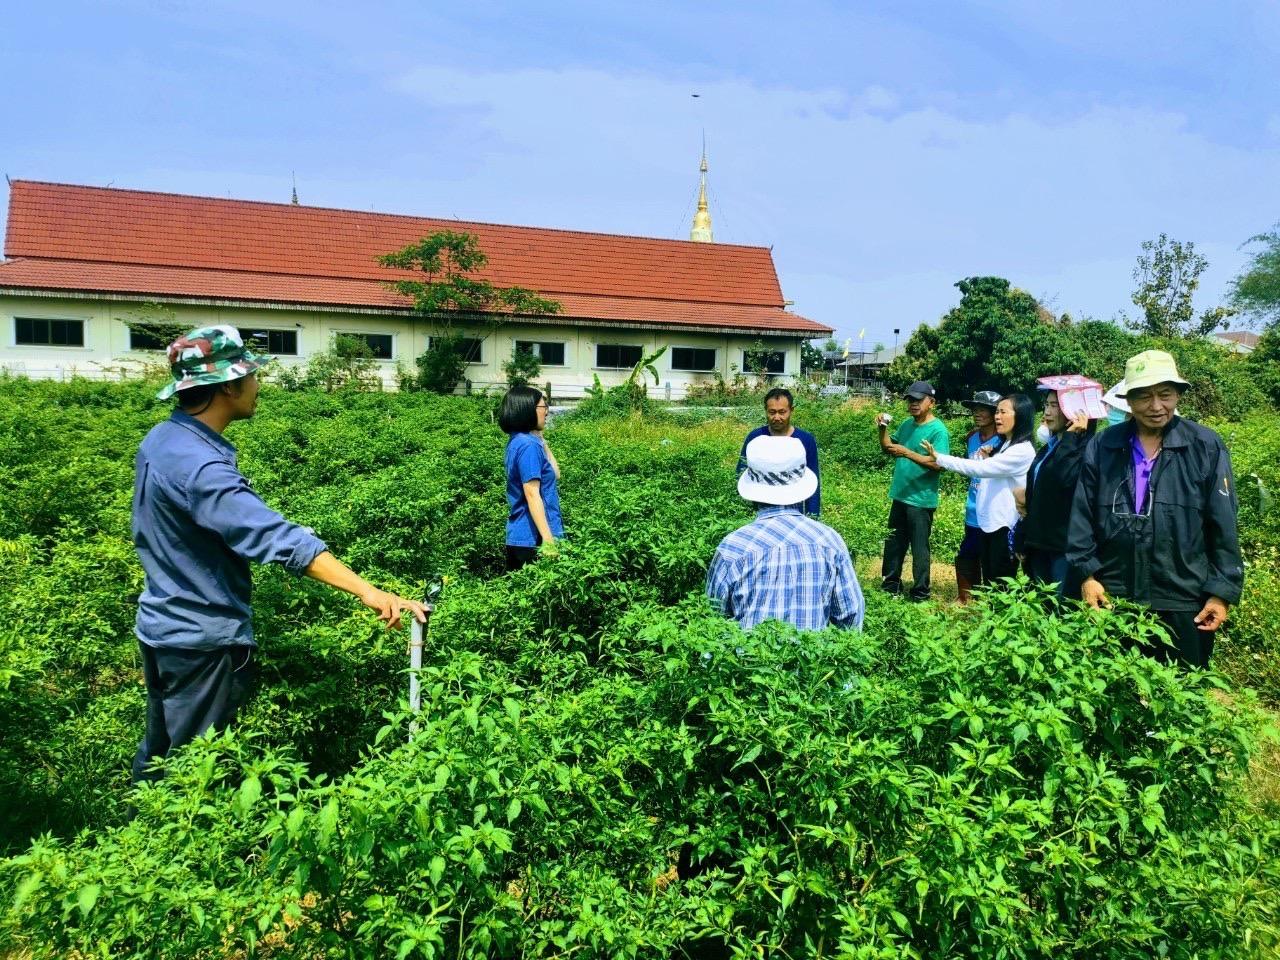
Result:
[[[873,412],[801,408],[826,518],[860,561],[886,511]],[[417,732],[403,635],[261,570],[259,695],[131,797],[132,453],[165,415],[142,388],[0,383],[0,940],[33,956],[1277,942],[1280,812],[1251,781],[1253,694],[1126,653],[1153,630],[1130,611],[1051,618],[1028,589],[964,612],[869,591],[865,634],[744,635],[700,599],[746,518],[731,420],[586,407],[557,425],[570,544],[503,577],[492,399],[264,392],[230,431],[255,488],[372,579],[449,577]],[[1275,476],[1280,436],[1219,426],[1251,561],[1274,566],[1275,515],[1243,477]],[[964,486],[943,489],[940,556]],[[1249,576],[1222,663],[1280,701],[1280,585]]]

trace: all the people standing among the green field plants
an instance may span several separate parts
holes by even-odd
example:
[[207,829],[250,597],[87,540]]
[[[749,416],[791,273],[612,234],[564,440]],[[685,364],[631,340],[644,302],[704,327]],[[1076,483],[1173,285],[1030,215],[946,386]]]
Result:
[[[369,584],[308,527],[292,524],[253,493],[223,435],[253,416],[265,357],[228,325],[192,330],[169,346],[175,399],[170,417],[142,442],[133,488],[133,541],[145,573],[134,632],[147,689],[146,733],[136,780],[159,774],[152,760],[210,728],[228,724],[253,685],[256,643],[250,563],[279,563],[375,611],[389,627],[430,607]],[[895,458],[882,586],[901,594],[913,557],[910,599],[929,596],[929,534],[938,476],[970,477],[965,538],[956,558],[961,599],[998,588],[1016,570],[1057,584],[1064,598],[1094,607],[1108,596],[1147,605],[1174,639],[1180,662],[1204,666],[1213,634],[1240,596],[1231,463],[1212,430],[1178,415],[1189,384],[1167,353],[1132,357],[1111,390],[1120,411],[1108,429],[1062,415],[1046,396],[1034,445],[1034,407],[1023,394],[979,392],[965,406],[974,430],[965,456],[950,454],[928,383],[906,390],[910,416],[881,445]],[[745,628],[778,620],[803,630],[859,628],[864,599],[844,539],[823,524],[818,443],[791,424],[785,389],[764,398],[767,424],[742,443],[739,494],[756,515],[723,539],[707,575],[712,600]],[[503,398],[508,434],[507,570],[553,554],[564,527],[559,465],[543,430],[547,401],[529,387]],[[1096,434],[1096,435],[1094,435]]]

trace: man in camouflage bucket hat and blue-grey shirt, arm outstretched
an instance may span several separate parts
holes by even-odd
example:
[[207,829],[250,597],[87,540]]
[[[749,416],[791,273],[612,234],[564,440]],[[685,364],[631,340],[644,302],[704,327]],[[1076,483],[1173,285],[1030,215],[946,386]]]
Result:
[[134,627],[147,686],[147,727],[133,780],[151,760],[225,727],[253,682],[250,561],[279,563],[346,590],[398,627],[429,608],[367,584],[312,530],[291,524],[250,488],[223,436],[257,408],[255,356],[234,326],[204,326],[169,346],[173,383],[159,397],[177,410],[138,448],[133,543],[146,575]]

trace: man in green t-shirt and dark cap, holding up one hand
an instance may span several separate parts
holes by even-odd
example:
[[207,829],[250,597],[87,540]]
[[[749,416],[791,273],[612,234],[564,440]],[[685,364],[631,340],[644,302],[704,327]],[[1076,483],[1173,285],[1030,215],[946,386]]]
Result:
[[881,413],[881,449],[893,457],[893,480],[888,497],[888,536],[884,538],[884,558],[881,567],[881,586],[893,595],[902,593],[902,563],[911,550],[913,600],[929,599],[929,534],[933,530],[933,511],[938,508],[938,466],[924,454],[925,442],[936,449],[951,449],[951,436],[946,425],[933,416],[937,392],[933,384],[916,380],[906,388],[906,410],[911,415],[892,436],[888,433],[890,415]]

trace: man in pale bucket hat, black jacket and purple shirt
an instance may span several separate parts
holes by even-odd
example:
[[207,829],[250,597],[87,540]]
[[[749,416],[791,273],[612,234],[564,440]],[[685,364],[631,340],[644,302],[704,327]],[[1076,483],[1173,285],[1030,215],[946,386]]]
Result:
[[1216,433],[1178,415],[1189,385],[1164,351],[1129,357],[1132,420],[1085,448],[1066,557],[1085,603],[1125,596],[1144,604],[1172,640],[1155,655],[1204,667],[1240,600],[1244,564],[1231,457]]

